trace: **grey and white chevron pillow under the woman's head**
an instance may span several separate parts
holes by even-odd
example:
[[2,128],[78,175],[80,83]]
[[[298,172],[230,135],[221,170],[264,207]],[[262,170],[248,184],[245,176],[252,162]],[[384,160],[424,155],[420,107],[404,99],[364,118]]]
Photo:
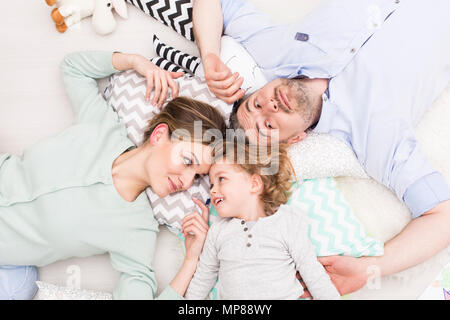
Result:
[[[150,102],[145,101],[146,80],[132,70],[116,73],[109,80],[109,85],[104,92],[105,99],[125,123],[130,140],[139,146],[143,142],[147,121],[159,112],[157,107],[151,105],[152,97]],[[178,83],[180,96],[209,103],[218,108],[228,119],[232,105],[216,98],[200,78],[185,76],[175,81]],[[170,99],[172,94],[169,89],[166,102]],[[200,210],[192,201],[192,197],[200,199],[203,203],[209,199],[209,177],[197,179],[188,190],[164,198],[158,197],[150,188],[147,188],[145,192],[158,222],[178,233],[181,230],[183,217]]]

